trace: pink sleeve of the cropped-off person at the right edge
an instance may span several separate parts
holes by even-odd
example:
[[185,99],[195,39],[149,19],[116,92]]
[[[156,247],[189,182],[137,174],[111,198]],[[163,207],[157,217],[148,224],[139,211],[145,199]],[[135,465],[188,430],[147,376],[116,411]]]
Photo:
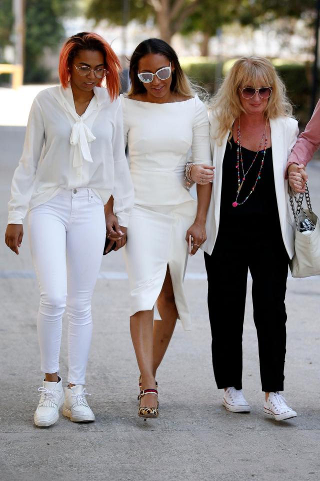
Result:
[[320,147],[320,100],[316,104],[312,117],[296,141],[289,155],[286,169],[290,164],[306,165],[314,152]]

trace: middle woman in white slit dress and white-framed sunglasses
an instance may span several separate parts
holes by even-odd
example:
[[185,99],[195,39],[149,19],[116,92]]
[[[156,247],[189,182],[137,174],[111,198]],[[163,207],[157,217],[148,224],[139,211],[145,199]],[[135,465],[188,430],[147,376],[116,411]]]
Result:
[[[121,101],[135,196],[124,253],[130,331],[141,373],[138,415],[157,417],[156,369],[176,319],[190,329],[182,286],[186,240],[192,237],[195,254],[206,239],[211,183],[197,185],[196,202],[185,188],[184,167],[190,148],[194,163],[211,164],[209,124],[174,50],[162,40],[148,39],[137,46],[129,75],[131,89]],[[212,167],[199,166],[199,172],[205,182],[213,177]]]

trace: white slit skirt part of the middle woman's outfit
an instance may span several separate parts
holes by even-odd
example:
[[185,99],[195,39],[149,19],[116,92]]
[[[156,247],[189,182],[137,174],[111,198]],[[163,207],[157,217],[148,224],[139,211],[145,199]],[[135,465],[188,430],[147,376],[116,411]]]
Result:
[[[190,314],[183,291],[187,262],[185,232],[196,212],[191,200],[176,206],[134,205],[128,225],[124,259],[130,284],[130,316],[149,311],[156,303],[169,267],[178,319],[190,329]],[[155,318],[159,318],[155,309]]]

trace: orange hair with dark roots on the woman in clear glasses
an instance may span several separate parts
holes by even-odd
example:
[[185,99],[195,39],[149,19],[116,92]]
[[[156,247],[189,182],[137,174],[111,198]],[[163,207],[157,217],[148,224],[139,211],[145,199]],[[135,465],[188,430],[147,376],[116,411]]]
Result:
[[[106,89],[111,100],[116,99],[120,90],[120,61],[109,44],[100,35],[92,32],[80,32],[72,35],[64,42],[59,57],[59,78],[62,87],[66,89],[68,85],[69,71],[71,70],[73,59],[80,50],[97,50],[101,52],[104,59],[104,68],[108,71],[105,77]],[[97,83],[97,87],[101,87],[102,81],[103,79]]]

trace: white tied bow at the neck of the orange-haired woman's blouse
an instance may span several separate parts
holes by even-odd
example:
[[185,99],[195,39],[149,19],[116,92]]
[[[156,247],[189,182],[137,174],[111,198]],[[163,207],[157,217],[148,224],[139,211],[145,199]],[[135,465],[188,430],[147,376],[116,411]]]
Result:
[[[64,90],[60,87],[60,97],[57,100],[72,117],[72,120],[75,121],[72,126],[69,142],[75,147],[73,149],[72,167],[78,168],[82,167],[83,159],[87,162],[93,162],[88,143],[95,140],[95,137],[88,126],[84,123],[84,120],[92,113],[92,108],[90,108],[91,105],[88,105],[84,114],[79,117],[75,112],[74,106],[71,106],[68,102],[68,97],[70,97],[69,101],[73,104],[71,88],[68,87]],[[78,146],[78,148],[76,148],[76,146]]]

